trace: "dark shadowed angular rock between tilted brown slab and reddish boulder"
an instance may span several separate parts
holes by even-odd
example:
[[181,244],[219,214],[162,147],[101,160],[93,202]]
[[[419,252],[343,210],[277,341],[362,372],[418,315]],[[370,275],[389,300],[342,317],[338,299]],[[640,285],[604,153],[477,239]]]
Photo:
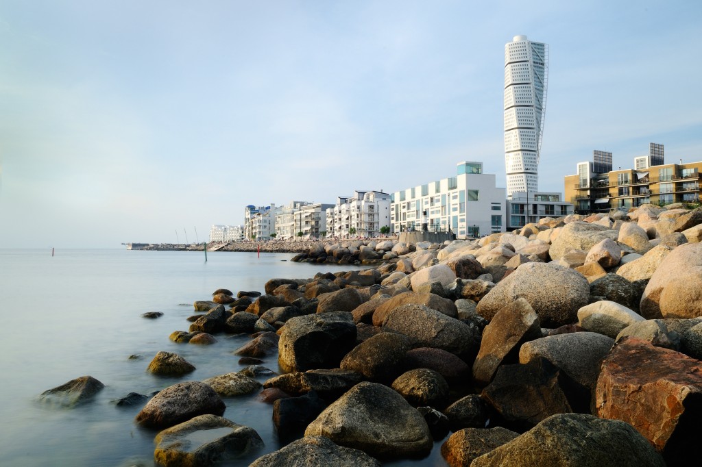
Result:
[[553,414],[572,412],[559,373],[545,358],[534,358],[524,365],[503,365],[481,397],[510,426],[531,428]]

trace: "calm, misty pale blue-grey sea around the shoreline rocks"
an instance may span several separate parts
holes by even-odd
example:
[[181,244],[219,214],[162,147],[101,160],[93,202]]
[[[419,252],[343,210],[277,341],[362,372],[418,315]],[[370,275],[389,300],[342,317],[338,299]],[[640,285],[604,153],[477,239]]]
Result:
[[[211,346],[176,344],[193,302],[227,288],[264,293],[270,278],[312,278],[358,266],[291,262],[292,254],[140,250],[0,250],[0,465],[153,466],[154,436],[134,417],[143,404],[115,404],[128,393],[151,394],[180,381],[241,370],[235,351],[245,335],[217,336]],[[164,313],[143,318],[150,311]],[[185,377],[146,371],[158,351],[178,353],[197,370]],[[130,358],[131,357],[131,358]],[[263,366],[282,372],[277,356]],[[44,391],[90,375],[103,384],[92,400],[63,407]],[[263,383],[265,378],[259,379]],[[256,393],[223,398],[224,417],[254,428],[265,446],[221,465],[248,466],[283,447],[272,405]],[[388,466],[445,466],[435,443],[425,459]]]

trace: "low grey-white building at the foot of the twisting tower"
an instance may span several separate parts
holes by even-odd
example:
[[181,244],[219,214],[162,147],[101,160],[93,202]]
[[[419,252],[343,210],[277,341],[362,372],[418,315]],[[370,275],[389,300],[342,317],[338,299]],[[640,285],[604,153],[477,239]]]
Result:
[[564,217],[573,214],[575,207],[561,200],[560,193],[527,193],[515,191],[512,199],[508,199],[507,228],[519,229],[530,222],[538,222],[544,217]]

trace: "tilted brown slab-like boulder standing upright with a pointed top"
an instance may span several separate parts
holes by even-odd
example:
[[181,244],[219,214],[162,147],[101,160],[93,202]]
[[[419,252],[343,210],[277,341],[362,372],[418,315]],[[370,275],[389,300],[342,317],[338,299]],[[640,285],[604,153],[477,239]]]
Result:
[[519,297],[506,305],[483,330],[472,369],[475,384],[489,384],[500,365],[517,363],[519,348],[524,342],[541,337],[538,316],[526,299]]

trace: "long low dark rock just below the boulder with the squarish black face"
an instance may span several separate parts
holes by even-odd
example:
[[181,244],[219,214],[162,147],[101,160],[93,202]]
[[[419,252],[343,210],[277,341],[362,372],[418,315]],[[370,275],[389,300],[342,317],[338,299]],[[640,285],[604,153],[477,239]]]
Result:
[[281,374],[265,381],[264,388],[279,388],[290,395],[303,395],[315,391],[323,398],[336,399],[361,382],[361,374],[331,368]]

